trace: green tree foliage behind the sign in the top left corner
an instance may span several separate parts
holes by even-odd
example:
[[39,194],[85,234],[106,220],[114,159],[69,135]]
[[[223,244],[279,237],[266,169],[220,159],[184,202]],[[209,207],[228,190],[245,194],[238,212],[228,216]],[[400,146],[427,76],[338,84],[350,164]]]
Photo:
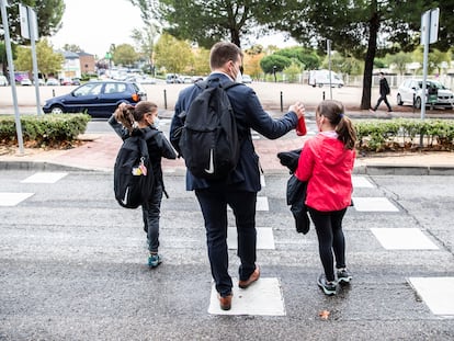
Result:
[[[10,36],[16,44],[30,44],[21,36],[19,3],[30,5],[36,12],[39,37],[52,36],[61,29],[61,18],[65,12],[64,0],[9,0],[8,3],[10,5],[7,9]],[[2,27],[1,21],[0,26]]]

